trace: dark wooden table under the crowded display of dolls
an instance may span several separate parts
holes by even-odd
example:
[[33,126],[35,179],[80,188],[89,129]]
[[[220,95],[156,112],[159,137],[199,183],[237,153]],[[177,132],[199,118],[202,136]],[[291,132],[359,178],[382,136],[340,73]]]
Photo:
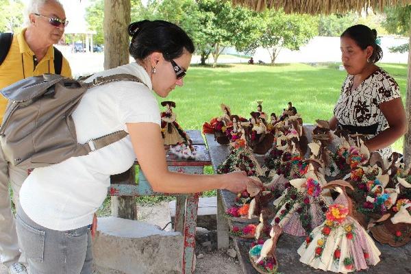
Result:
[[[206,134],[206,143],[208,145],[208,151],[210,152],[212,166],[214,171],[216,171],[217,166],[227,158],[229,147],[219,145],[219,143],[214,140],[214,135],[212,134]],[[263,158],[263,156],[257,156],[258,162],[262,163]],[[236,221],[225,217],[225,211],[233,205],[235,198],[236,195],[227,190],[219,190],[217,192],[217,242],[219,249],[228,248],[229,227],[239,225]],[[280,273],[304,274],[332,273],[315,270],[299,262],[297,249],[304,240],[305,237],[290,236],[288,234],[282,234],[282,236],[279,237],[277,244],[278,271]],[[248,251],[251,246],[251,241],[237,237],[234,237],[233,241],[243,273],[258,274],[249,262]],[[381,262],[376,266],[370,266],[368,271],[360,271],[358,273],[411,273],[411,243],[408,243],[408,245],[404,247],[397,248],[382,245],[379,244],[379,242],[376,242],[376,244],[382,253],[380,256]]]

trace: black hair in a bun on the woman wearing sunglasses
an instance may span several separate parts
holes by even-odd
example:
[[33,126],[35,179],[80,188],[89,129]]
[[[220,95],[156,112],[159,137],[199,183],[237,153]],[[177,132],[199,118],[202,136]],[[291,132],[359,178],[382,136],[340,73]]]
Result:
[[195,50],[192,40],[183,29],[173,23],[143,20],[131,23],[128,27],[132,42],[129,53],[136,60],[143,60],[153,52],[160,52],[164,59],[179,58],[184,49],[189,53]]

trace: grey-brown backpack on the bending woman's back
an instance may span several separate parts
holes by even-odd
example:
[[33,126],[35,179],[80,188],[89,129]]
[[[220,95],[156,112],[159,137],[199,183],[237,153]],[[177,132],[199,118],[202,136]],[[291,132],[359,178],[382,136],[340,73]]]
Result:
[[142,83],[128,74],[97,77],[90,83],[47,74],[3,88],[1,94],[9,100],[0,127],[6,160],[22,169],[49,166],[87,155],[127,136],[121,130],[79,144],[71,117],[88,88],[116,81]]

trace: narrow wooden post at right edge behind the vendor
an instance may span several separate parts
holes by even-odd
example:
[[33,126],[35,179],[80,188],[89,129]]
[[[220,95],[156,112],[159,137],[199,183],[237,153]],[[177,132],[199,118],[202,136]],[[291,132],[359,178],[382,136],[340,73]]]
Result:
[[411,24],[410,24],[410,40],[408,43],[409,43],[408,45],[408,83],[407,83],[408,85],[407,85],[407,102],[406,102],[408,132],[404,136],[404,147],[403,147],[404,162],[406,163],[406,166],[410,166],[411,164]]

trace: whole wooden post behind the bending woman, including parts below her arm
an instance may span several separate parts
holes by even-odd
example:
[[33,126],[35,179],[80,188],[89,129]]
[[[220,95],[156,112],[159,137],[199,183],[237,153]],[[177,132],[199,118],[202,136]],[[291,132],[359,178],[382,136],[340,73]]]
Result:
[[[113,69],[129,63],[129,36],[127,27],[130,23],[130,0],[104,0],[104,69]],[[134,169],[134,166],[133,166]],[[131,169],[129,184],[136,184]],[[124,219],[137,219],[134,197],[112,197],[112,216]]]

